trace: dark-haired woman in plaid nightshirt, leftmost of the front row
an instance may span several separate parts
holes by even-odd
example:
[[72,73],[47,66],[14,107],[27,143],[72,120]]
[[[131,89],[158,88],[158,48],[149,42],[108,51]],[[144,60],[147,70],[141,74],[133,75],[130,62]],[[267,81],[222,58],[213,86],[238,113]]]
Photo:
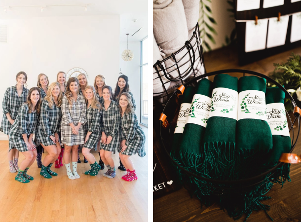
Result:
[[16,121],[9,130],[9,150],[16,148],[25,156],[15,177],[15,180],[21,183],[29,183],[34,180],[27,174],[27,171],[37,157],[33,136],[36,131],[40,106],[40,90],[38,87],[33,87],[29,90],[27,100],[21,106]]

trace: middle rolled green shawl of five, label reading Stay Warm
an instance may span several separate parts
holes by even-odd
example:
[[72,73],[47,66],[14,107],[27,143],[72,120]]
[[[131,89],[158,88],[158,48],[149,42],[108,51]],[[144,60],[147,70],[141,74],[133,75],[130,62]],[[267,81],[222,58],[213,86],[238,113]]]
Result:
[[[218,111],[225,113],[225,116],[236,112],[237,116],[237,95],[235,96],[236,98],[233,98],[236,100],[236,106],[232,107],[231,110],[216,107],[214,100],[217,97],[216,93],[218,93],[215,90],[216,88],[227,88],[237,92],[237,84],[237,77],[232,77],[228,74],[218,74],[214,77],[211,112]],[[214,179],[228,180],[234,177],[236,123],[237,119],[222,116],[212,116],[207,121],[203,139],[204,161],[207,163],[207,168],[204,172]]]

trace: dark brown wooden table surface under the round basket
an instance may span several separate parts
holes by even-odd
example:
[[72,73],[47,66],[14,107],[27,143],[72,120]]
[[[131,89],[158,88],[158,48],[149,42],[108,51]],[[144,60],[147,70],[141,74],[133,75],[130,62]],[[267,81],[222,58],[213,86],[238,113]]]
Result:
[[[301,55],[301,47],[291,51],[283,52],[266,59],[254,62],[245,66],[238,66],[237,52],[235,47],[227,46],[204,54],[204,61],[207,73],[224,69],[245,69],[268,75],[274,70],[273,63],[286,62],[291,52]],[[235,74],[234,74],[235,76]],[[241,75],[237,74],[237,77]],[[213,80],[213,76],[209,77]],[[296,124],[295,124],[296,125]],[[290,125],[289,125],[290,126]],[[294,134],[298,130],[294,126]],[[300,135],[301,136],[301,135]],[[291,132],[292,137],[292,132]],[[301,154],[301,139],[298,140],[294,153]],[[281,185],[275,184],[266,194],[272,198],[262,201],[270,205],[268,212],[274,222],[301,222],[301,164],[292,164],[290,177],[292,182]],[[245,215],[237,220],[243,222]],[[153,200],[153,221],[154,222],[233,222],[227,212],[220,210],[217,204],[201,208],[200,201],[193,196],[190,198],[188,191],[181,188],[178,191],[166,194],[163,197]],[[253,211],[247,222],[270,222],[263,210]]]

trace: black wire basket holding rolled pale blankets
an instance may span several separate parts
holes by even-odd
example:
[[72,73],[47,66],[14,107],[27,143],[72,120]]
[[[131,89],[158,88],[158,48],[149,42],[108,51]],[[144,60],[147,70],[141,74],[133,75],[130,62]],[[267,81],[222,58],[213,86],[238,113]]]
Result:
[[[195,26],[192,37],[185,42],[185,45],[177,52],[172,53],[161,61],[157,61],[152,67],[153,81],[162,83],[162,89],[153,91],[153,110],[157,106],[164,106],[168,98],[176,91],[180,85],[184,85],[191,79],[204,74],[203,47],[200,38],[198,23]],[[182,55],[184,53],[184,55]],[[179,55],[181,55],[179,57]],[[173,65],[165,67],[164,62],[172,60]]]

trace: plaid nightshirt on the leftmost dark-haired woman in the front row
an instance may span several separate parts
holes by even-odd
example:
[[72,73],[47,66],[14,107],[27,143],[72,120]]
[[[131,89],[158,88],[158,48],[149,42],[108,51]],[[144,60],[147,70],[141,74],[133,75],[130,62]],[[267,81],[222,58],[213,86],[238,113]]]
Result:
[[15,122],[12,124],[9,130],[9,150],[16,148],[21,152],[28,151],[22,134],[27,134],[29,138],[30,134],[34,134],[36,131],[38,121],[38,113],[29,113],[28,105],[25,103],[21,106]]

